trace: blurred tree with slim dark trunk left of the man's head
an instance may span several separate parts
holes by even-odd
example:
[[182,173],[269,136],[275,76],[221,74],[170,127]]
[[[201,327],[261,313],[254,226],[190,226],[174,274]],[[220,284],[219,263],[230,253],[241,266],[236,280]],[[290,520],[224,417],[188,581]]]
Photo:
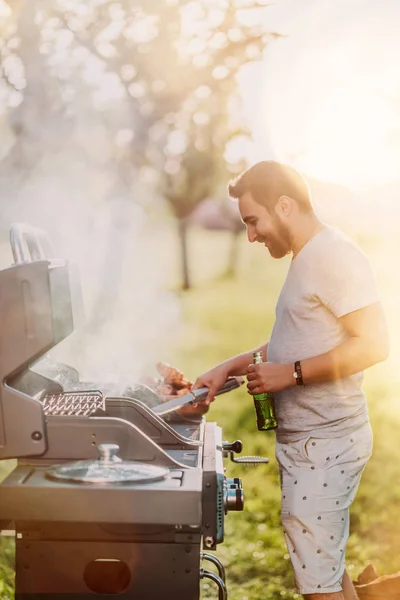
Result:
[[76,43],[103,61],[125,88],[132,142],[123,178],[129,186],[133,165],[154,169],[177,218],[187,289],[187,217],[226,178],[228,142],[248,134],[231,104],[240,69],[259,60],[277,36],[260,24],[259,12],[266,5],[248,0],[103,1],[92,3],[86,27],[77,26],[77,14],[63,8],[63,2],[60,7],[60,21],[74,32]]

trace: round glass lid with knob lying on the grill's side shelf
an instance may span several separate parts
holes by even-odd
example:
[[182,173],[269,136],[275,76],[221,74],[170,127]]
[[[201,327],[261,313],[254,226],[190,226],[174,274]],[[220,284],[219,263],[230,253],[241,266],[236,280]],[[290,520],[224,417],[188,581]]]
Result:
[[46,472],[50,479],[71,483],[153,483],[169,473],[166,467],[125,461],[117,456],[117,444],[100,444],[97,460],[57,465]]

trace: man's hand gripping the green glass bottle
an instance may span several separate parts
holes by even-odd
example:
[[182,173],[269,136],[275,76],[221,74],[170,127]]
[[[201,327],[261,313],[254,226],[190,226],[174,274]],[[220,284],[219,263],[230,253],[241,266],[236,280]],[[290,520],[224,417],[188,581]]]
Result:
[[283,365],[266,362],[258,365],[249,365],[247,368],[247,390],[249,394],[263,394],[265,392],[280,392],[281,390],[296,385],[293,377],[293,365]]

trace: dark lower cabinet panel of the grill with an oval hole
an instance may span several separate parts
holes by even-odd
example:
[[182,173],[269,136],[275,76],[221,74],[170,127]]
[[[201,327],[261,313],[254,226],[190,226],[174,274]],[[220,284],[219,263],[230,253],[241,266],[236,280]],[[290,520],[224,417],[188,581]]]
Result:
[[[97,572],[90,573],[96,559]],[[130,600],[198,600],[199,562],[199,544],[194,543],[17,540],[16,599],[49,600],[59,595],[71,600],[114,596]],[[126,565],[125,572],[118,569],[120,565]],[[119,570],[116,577],[115,567]],[[88,586],[99,592],[91,592]],[[121,588],[123,591],[117,593]]]

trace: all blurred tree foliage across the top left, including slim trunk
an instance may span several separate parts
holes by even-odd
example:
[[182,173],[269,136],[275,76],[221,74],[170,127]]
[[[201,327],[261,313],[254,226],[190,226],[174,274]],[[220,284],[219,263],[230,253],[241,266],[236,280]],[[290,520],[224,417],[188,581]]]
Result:
[[189,287],[186,218],[226,183],[229,169],[245,166],[243,156],[229,164],[225,151],[249,136],[237,76],[277,37],[265,26],[266,8],[251,0],[4,4],[0,93],[14,141],[0,177],[17,171],[17,193],[43,155],[70,139],[83,106],[107,113],[117,174],[111,193],[129,193],[145,170],[181,221]]

